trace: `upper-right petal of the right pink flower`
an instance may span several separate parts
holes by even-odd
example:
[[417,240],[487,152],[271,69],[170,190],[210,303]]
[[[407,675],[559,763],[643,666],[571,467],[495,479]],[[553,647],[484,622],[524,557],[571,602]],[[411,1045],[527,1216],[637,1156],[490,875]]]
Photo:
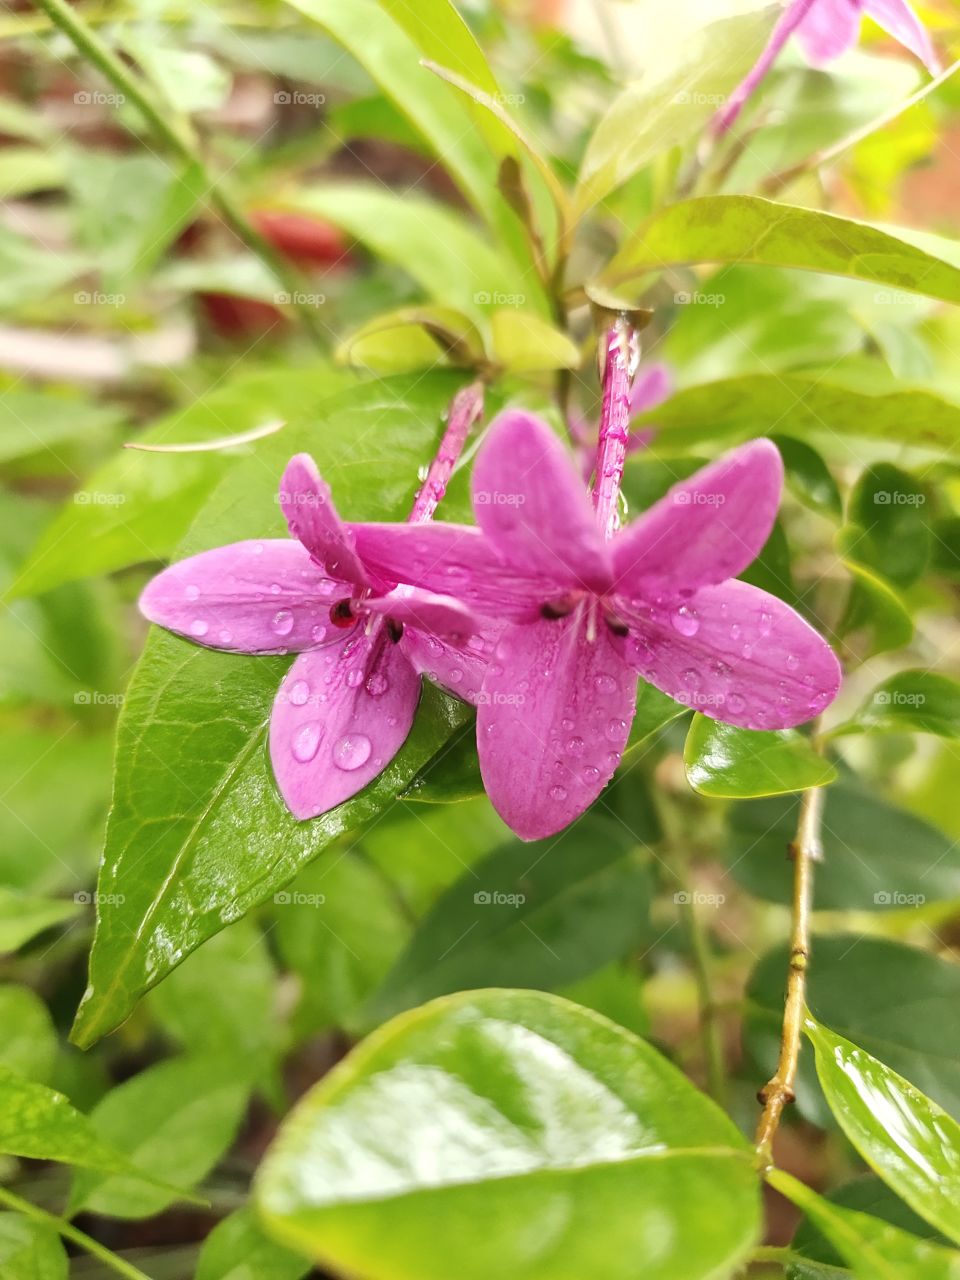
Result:
[[769,536],[783,463],[769,440],[751,440],[675,485],[617,534],[614,590],[649,599],[741,573]]

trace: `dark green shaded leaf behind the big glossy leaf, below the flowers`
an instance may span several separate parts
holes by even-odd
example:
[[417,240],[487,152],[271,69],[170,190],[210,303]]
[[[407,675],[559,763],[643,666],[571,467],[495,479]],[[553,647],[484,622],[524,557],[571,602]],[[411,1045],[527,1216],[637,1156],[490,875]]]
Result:
[[609,818],[585,815],[552,840],[513,840],[436,901],[369,1018],[475,987],[556,991],[640,945],[650,895],[636,842]]

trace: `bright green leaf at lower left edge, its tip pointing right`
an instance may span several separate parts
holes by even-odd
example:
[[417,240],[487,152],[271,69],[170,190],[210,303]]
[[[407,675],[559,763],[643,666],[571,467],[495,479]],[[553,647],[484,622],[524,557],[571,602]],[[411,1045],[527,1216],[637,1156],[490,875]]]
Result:
[[5,1066],[0,1066],[0,1152],[105,1172],[132,1171],[127,1155],[63,1093],[24,1080]]

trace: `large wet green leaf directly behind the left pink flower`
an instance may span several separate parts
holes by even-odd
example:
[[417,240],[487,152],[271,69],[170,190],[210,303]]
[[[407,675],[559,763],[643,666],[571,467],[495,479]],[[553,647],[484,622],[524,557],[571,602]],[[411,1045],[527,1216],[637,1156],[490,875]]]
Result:
[[[282,433],[232,471],[182,554],[283,531],[274,488],[310,449],[344,517],[396,518],[417,489],[460,379],[367,384],[320,424]],[[375,476],[374,484],[370,477]],[[74,1037],[88,1046],[232,920],[269,899],[332,841],[392,805],[454,730],[463,703],[426,686],[401,753],[365,791],[311,822],[287,810],[266,733],[284,658],[214,653],[157,631],[118,730],[118,773],[100,878],[90,984]],[[184,724],[189,732],[184,732]]]

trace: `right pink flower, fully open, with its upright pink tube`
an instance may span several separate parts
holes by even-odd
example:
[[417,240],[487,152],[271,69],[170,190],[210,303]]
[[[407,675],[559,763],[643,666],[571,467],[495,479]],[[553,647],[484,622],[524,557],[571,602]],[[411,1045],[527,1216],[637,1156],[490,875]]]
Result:
[[472,476],[477,526],[353,526],[378,573],[403,573],[506,621],[484,676],[488,795],[525,840],[561,831],[617,768],[637,673],[714,719],[786,728],[837,694],[826,641],[782,600],[736,581],[773,525],[783,468],[754,440],[676,485],[620,531],[628,383],[604,389],[594,506],[549,428],[511,410]]

